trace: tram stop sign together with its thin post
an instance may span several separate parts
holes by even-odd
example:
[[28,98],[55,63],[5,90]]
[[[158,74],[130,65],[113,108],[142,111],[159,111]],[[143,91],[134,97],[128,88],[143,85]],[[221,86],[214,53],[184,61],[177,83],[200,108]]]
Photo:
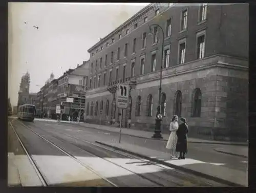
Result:
[[117,108],[122,109],[121,120],[120,120],[120,132],[119,132],[119,143],[121,143],[122,133],[122,122],[123,122],[123,110],[127,109],[129,102],[129,84],[119,83],[117,84]]

